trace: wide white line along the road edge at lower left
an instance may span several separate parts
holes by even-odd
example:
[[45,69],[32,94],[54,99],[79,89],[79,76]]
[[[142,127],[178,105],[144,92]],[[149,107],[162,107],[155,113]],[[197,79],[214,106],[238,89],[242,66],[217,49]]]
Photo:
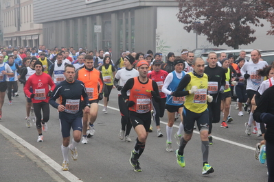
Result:
[[25,140],[23,140],[23,138],[20,138],[18,135],[16,135],[15,133],[10,131],[6,127],[3,127],[3,125],[0,125],[0,129],[2,131],[4,131],[5,133],[7,133],[8,135],[10,135],[10,137],[12,137],[14,140],[16,140],[17,142],[19,142],[20,144],[22,144],[23,146],[28,148],[30,151],[32,151],[32,153],[34,153],[35,155],[37,155],[38,157],[43,159],[43,161],[45,161],[47,164],[49,164],[49,166],[52,166],[52,168],[54,168],[57,172],[59,172],[63,177],[67,178],[69,181],[82,181],[78,177],[73,175],[71,172],[62,171],[60,164],[58,164],[56,161],[54,161],[53,159],[51,159],[50,157],[45,155],[45,153],[42,153],[41,151],[39,151],[33,145],[31,145],[28,142],[26,142]]

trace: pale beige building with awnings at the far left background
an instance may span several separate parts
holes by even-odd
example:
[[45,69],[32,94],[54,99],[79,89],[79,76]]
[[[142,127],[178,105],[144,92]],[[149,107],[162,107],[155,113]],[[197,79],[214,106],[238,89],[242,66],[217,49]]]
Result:
[[32,0],[1,0],[3,46],[38,47],[43,25],[34,23]]

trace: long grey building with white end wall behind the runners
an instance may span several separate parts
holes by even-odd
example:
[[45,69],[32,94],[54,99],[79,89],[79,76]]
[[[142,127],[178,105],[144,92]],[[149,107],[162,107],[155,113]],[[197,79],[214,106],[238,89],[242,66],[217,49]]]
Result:
[[[34,22],[43,24],[43,44],[49,49],[111,50],[116,60],[126,50],[180,55],[182,49],[214,47],[205,36],[183,29],[174,0],[34,0],[33,8]],[[255,27],[257,40],[240,49],[271,49],[274,36],[266,36],[270,24],[263,23]]]

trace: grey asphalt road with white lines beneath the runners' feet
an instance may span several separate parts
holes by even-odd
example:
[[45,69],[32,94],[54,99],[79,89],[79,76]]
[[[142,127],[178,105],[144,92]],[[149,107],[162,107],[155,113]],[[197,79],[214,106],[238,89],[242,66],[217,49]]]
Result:
[[[165,151],[167,116],[161,118],[163,138],[155,131],[148,135],[146,149],[139,162],[142,172],[134,172],[129,164],[134,142],[119,140],[120,114],[117,90],[113,89],[108,114],[102,112],[102,101],[95,122],[95,135],[89,144],[78,145],[78,161],[69,162],[69,172],[61,170],[62,136],[56,109],[51,107],[48,131],[43,133],[44,142],[36,142],[38,133],[34,123],[25,127],[25,96],[22,85],[13,105],[5,103],[0,120],[0,181],[267,181],[266,165],[254,157],[255,144],[262,140],[256,135],[244,133],[244,122],[249,116],[238,116],[231,105],[233,121],[228,129],[214,124],[214,145],[209,146],[209,164],[215,172],[202,174],[201,140],[194,131],[192,140],[185,148],[185,168],[176,163],[175,153]],[[153,123],[154,124],[154,123]],[[153,125],[155,126],[155,125]],[[173,135],[179,121],[175,122]],[[132,129],[130,138],[137,137]],[[174,151],[179,148],[172,138]]]

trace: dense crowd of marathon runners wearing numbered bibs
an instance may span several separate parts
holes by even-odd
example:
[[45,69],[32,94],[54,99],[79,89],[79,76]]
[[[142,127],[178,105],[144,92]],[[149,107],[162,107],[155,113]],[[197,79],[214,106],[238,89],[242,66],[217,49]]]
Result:
[[233,121],[230,108],[235,90],[238,116],[244,116],[243,110],[249,114],[243,127],[245,133],[262,136],[262,141],[255,145],[255,158],[262,164],[267,161],[269,181],[274,181],[274,96],[271,92],[274,64],[261,60],[257,49],[251,51],[251,60],[245,60],[244,51],[238,60],[230,54],[220,53],[217,57],[211,52],[208,65],[187,49],[176,57],[168,53],[166,62],[162,53],[153,54],[150,50],[123,52],[116,62],[111,59],[111,52],[102,49],[94,53],[82,48],[76,51],[73,47],[46,49],[41,45],[38,49],[5,47],[0,51],[0,120],[5,116],[2,112],[5,93],[12,105],[12,99],[19,96],[19,83],[23,83],[26,98],[26,127],[32,127],[32,116],[38,131],[37,142],[43,142],[43,132],[47,132],[49,105],[56,108],[63,138],[62,170],[69,170],[69,151],[71,158],[77,160],[76,146],[80,142],[88,144],[95,134],[98,103],[103,100],[102,112],[107,114],[111,90],[116,88],[121,114],[117,136],[132,142],[132,127],[137,133],[130,155],[135,172],[141,171],[139,157],[152,131],[152,121],[157,137],[164,136],[160,118],[166,109],[166,151],[174,151],[172,129],[180,117],[179,130],[174,135],[179,145],[175,151],[177,163],[185,167],[184,148],[197,127],[201,135],[202,174],[210,174],[214,172],[208,162],[209,145],[214,144],[212,124],[222,119],[220,127],[227,129],[227,123]]

